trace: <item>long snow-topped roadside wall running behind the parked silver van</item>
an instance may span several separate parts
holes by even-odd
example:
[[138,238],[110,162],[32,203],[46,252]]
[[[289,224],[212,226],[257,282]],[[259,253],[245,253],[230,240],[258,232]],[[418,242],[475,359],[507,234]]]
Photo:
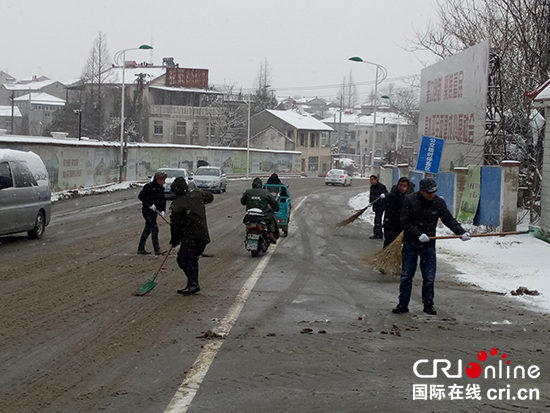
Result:
[[[118,142],[8,135],[0,136],[0,147],[38,154],[50,175],[52,191],[118,182]],[[250,174],[299,173],[300,156],[296,151],[250,149]],[[199,160],[231,176],[246,174],[247,149],[129,143],[127,159],[124,180],[147,179],[161,167],[194,171]]]

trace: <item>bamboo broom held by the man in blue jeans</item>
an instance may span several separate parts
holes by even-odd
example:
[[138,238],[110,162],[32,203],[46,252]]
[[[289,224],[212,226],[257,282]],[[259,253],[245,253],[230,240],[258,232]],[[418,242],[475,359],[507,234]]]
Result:
[[[503,237],[506,235],[527,234],[529,231],[511,232],[488,232],[484,234],[471,234],[470,237]],[[461,238],[462,235],[442,235],[430,237],[430,239],[451,239]],[[386,248],[368,256],[365,261],[382,274],[401,275],[401,244],[403,243],[403,232]]]

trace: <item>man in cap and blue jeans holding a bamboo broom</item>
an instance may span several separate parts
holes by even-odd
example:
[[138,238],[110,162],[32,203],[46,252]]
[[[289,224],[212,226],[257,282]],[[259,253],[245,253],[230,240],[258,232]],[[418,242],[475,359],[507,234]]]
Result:
[[453,218],[443,198],[435,193],[437,184],[432,178],[420,181],[420,190],[407,195],[401,209],[401,222],[404,227],[401,284],[399,286],[399,304],[393,313],[409,312],[412,280],[416,272],[418,257],[422,271],[422,302],[424,312],[435,315],[434,282],[436,271],[435,236],[438,220],[441,218],[456,235],[462,235],[462,241],[468,241],[470,234]]

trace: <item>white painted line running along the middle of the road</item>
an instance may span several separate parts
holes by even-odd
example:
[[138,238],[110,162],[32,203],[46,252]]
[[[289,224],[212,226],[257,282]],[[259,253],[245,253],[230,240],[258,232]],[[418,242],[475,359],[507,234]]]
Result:
[[[294,215],[296,211],[298,211],[306,198],[307,196],[305,196],[300,201],[296,208],[292,209],[291,215]],[[227,312],[227,315],[221,321],[220,326],[216,328],[217,334],[220,334],[223,337],[226,337],[229,334],[231,328],[233,327],[233,324],[235,324],[235,321],[237,321],[237,318],[241,314],[241,311],[246,304],[248,296],[250,295],[250,293],[254,289],[254,286],[256,285],[256,282],[264,272],[264,269],[271,258],[271,254],[273,254],[273,251],[275,251],[275,249],[277,248],[277,245],[278,244],[274,245],[273,248],[270,248],[267,251],[266,255],[264,255],[264,257],[256,266],[256,269],[254,270],[252,275],[243,285],[243,288],[241,288],[241,291],[237,295],[235,302],[231,305],[231,308]],[[200,385],[204,380],[206,373],[208,373],[208,370],[210,369],[214,358],[218,354],[218,351],[220,350],[223,341],[223,339],[214,339],[204,346],[201,353],[193,363],[193,366],[191,366],[191,370],[189,371],[189,373],[187,373],[187,376],[176,391],[176,394],[174,394],[174,397],[172,397],[170,404],[168,405],[166,410],[164,410],[164,413],[187,412],[187,409],[195,398],[197,391],[199,391]]]

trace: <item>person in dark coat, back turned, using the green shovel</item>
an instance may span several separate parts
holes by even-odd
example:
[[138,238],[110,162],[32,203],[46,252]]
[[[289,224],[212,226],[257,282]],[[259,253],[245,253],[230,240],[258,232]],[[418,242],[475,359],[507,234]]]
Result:
[[210,242],[204,205],[214,195],[200,189],[190,192],[183,177],[174,179],[170,188],[176,195],[170,206],[170,245],[181,244],[177,262],[187,276],[187,286],[178,293],[192,295],[200,291],[199,257]]

